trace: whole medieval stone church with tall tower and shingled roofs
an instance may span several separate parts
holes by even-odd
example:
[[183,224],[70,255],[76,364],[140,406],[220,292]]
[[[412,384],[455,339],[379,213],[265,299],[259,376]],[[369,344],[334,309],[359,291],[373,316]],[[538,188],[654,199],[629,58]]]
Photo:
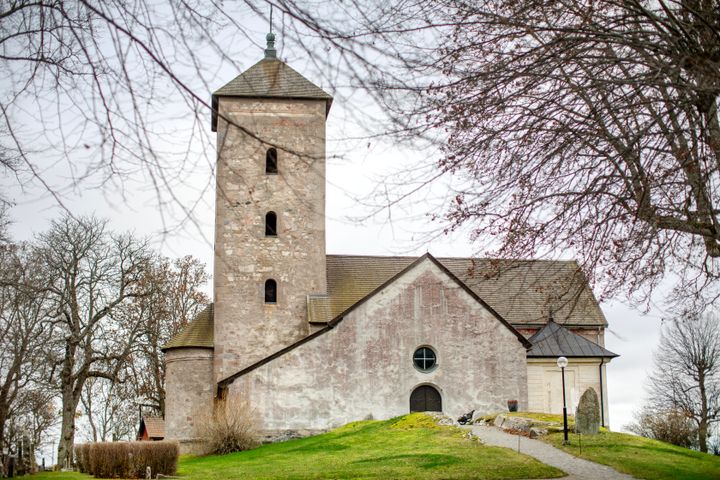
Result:
[[607,321],[574,261],[328,255],[332,97],[276,58],[212,95],[214,303],[165,345],[166,438],[247,402],[266,438],[411,411],[572,413],[608,422]]

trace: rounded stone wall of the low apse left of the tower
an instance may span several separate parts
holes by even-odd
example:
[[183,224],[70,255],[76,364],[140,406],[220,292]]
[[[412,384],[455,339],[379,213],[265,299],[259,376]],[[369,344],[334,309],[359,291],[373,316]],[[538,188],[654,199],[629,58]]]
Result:
[[212,412],[213,351],[179,348],[165,353],[165,437],[180,442],[181,453],[199,453],[196,438],[198,415]]

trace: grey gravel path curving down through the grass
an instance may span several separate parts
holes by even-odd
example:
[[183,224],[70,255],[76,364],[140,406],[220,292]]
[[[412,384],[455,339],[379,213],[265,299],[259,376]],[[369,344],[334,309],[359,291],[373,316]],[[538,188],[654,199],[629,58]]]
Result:
[[520,453],[530,455],[542,463],[568,473],[567,477],[563,477],[564,480],[633,480],[635,478],[606,465],[574,457],[540,440],[510,435],[497,427],[474,425],[463,428],[472,430],[473,435],[480,438],[483,443],[511,448],[515,451],[518,450],[519,439]]

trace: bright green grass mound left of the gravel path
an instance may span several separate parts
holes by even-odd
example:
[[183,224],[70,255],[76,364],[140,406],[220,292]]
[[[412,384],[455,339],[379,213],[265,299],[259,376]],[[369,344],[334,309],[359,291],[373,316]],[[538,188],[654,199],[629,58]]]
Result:
[[[512,450],[468,439],[424,414],[356,422],[332,432],[222,456],[183,457],[183,479],[556,478],[560,470]],[[88,479],[38,474],[33,480]]]

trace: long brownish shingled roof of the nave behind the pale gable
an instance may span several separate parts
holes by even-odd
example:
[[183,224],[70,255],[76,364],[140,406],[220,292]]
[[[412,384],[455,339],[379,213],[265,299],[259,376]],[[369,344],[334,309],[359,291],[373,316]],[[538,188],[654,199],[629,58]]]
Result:
[[[332,320],[416,259],[328,255],[328,293],[309,296],[308,319]],[[607,325],[575,261],[437,260],[515,327],[543,326],[551,314],[568,326]]]

